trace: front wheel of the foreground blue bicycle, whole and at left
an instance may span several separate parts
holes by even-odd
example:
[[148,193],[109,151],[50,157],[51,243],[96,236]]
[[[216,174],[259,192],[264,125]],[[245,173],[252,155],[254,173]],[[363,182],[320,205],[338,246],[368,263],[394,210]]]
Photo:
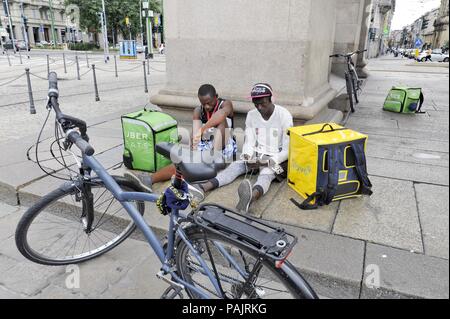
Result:
[[[139,191],[134,184],[115,178],[124,191]],[[77,183],[66,183],[43,197],[22,216],[16,229],[16,246],[27,259],[58,266],[83,262],[113,249],[135,230],[127,211],[103,182],[91,181],[94,220],[85,230],[83,201]],[[145,204],[134,202],[144,214]]]

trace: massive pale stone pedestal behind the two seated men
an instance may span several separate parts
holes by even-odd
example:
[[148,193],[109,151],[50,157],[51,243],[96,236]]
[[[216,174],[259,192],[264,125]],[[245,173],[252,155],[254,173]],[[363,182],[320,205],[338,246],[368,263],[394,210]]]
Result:
[[173,0],[164,2],[167,84],[151,102],[191,110],[197,90],[213,84],[237,113],[257,82],[275,102],[310,120],[336,92],[328,83],[335,0]]

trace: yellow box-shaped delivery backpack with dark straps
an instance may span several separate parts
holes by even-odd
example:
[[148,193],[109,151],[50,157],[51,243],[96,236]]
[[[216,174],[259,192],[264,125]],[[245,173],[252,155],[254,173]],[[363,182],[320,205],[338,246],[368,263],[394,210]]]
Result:
[[367,176],[367,136],[334,123],[289,130],[288,183],[305,201],[301,209],[316,209],[332,201],[372,195]]

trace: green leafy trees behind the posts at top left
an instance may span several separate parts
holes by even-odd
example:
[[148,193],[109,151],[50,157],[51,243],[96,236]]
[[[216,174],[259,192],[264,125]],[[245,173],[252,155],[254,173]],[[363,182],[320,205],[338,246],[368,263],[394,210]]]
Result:
[[[66,5],[74,4],[80,8],[80,26],[89,32],[100,32],[101,24],[98,12],[102,11],[101,0],[66,0]],[[157,0],[150,0],[150,9],[154,12],[161,12],[161,3]],[[122,34],[125,38],[131,34],[133,37],[141,33],[140,14],[138,0],[105,0],[106,21],[108,23],[108,33],[115,35]],[[130,19],[130,27],[125,23],[125,18]],[[131,30],[130,30],[131,29]]]

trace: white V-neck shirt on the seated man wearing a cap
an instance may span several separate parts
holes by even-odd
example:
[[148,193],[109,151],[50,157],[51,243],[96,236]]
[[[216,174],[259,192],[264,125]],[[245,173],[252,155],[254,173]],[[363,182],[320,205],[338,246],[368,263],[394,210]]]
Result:
[[293,126],[291,113],[279,105],[275,105],[275,110],[267,121],[258,110],[251,110],[245,121],[245,143],[242,154],[252,158],[256,153],[267,155],[277,164],[287,161],[289,153],[287,130]]

